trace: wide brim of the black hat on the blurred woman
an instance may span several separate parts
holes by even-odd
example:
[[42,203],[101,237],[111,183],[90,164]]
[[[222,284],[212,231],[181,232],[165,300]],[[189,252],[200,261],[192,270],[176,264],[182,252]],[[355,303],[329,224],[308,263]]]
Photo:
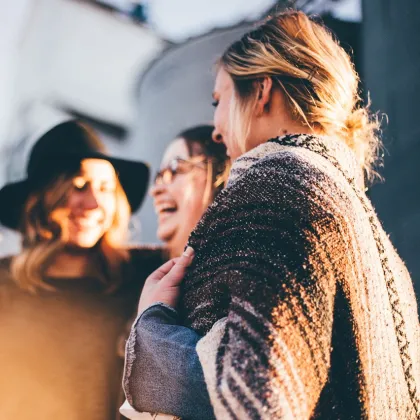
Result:
[[[136,212],[146,196],[150,170],[143,162],[113,158],[102,153],[89,153],[58,157],[62,160],[103,159],[111,163],[117,173],[121,186],[127,196],[131,212]],[[22,181],[6,184],[0,190],[0,223],[10,229],[17,230],[21,223],[23,206],[30,193],[34,189],[34,183],[26,178]]]

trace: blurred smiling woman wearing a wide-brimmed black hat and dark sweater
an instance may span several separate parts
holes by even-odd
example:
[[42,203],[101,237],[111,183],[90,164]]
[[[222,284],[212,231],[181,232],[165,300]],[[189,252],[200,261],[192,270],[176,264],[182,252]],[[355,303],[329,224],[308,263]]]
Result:
[[27,178],[0,190],[0,222],[22,251],[0,261],[0,418],[115,418],[121,347],[153,249],[124,247],[148,167],[108,156],[61,123],[34,145]]

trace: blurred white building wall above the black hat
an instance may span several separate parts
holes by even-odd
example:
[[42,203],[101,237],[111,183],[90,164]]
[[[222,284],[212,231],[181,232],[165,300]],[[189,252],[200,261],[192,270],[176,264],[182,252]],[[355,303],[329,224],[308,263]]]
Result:
[[36,0],[18,61],[19,105],[46,101],[128,125],[133,85],[162,47],[152,32],[98,7]]

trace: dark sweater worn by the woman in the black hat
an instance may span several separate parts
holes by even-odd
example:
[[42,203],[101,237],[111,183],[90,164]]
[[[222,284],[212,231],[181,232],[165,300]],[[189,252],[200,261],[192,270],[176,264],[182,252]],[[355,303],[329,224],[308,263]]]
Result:
[[29,294],[9,263],[0,261],[0,419],[114,420],[128,325],[161,252],[131,250],[113,294],[86,277],[46,279],[56,292]]

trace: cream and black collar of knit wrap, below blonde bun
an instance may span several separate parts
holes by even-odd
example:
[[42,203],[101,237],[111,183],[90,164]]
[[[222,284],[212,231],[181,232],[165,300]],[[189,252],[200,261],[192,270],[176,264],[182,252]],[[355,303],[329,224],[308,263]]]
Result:
[[261,159],[290,148],[305,149],[322,156],[343,172],[347,179],[364,189],[363,171],[354,152],[341,140],[311,134],[287,134],[276,137],[239,156],[233,162],[228,186]]

